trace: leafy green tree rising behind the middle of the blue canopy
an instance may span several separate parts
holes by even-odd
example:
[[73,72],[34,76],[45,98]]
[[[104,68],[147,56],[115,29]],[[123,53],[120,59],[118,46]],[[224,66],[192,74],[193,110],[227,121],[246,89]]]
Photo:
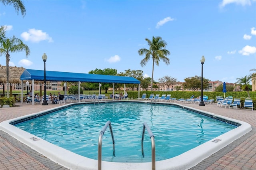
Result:
[[[117,75],[116,69],[95,69],[89,71],[89,74],[102,74],[102,75]],[[99,82],[100,83],[100,82]],[[98,86],[98,83],[93,83],[94,86]],[[101,83],[102,88],[105,89],[105,93],[108,93],[108,88],[111,87],[110,83]],[[99,86],[98,86],[99,87]]]

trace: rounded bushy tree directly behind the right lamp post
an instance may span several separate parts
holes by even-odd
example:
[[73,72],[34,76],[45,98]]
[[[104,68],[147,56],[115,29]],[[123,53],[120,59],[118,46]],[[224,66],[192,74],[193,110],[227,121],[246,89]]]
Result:
[[[196,89],[201,89],[201,77],[188,77],[184,79],[185,83],[183,86],[185,89],[192,89],[192,91],[196,91]],[[209,80],[203,77],[203,89],[208,89]]]

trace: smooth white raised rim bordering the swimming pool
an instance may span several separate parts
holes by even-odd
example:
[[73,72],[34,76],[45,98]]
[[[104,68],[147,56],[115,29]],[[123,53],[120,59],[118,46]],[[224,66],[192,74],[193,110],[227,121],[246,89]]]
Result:
[[[177,104],[179,105],[179,104]],[[182,106],[182,105],[180,105]],[[62,106],[60,106],[62,107]],[[57,107],[57,108],[60,108]],[[193,148],[179,156],[174,158],[170,158],[167,160],[161,160],[156,162],[156,169],[157,170],[186,170],[196,166],[205,158],[209,157],[210,155],[214,154],[218,150],[224,148],[228,144],[232,143],[234,140],[240,138],[244,134],[250,132],[252,127],[250,124],[245,123],[243,121],[238,121],[235,119],[231,119],[228,117],[224,117],[221,115],[217,115],[214,113],[202,111],[199,109],[194,109],[192,107],[182,106],[184,108],[190,108],[195,111],[200,111],[207,113],[209,115],[214,115],[216,117],[220,117],[223,119],[227,119],[236,123],[241,124],[241,126],[226,132],[210,140]],[[32,149],[36,150],[40,154],[46,156],[50,160],[72,170],[97,170],[98,169],[98,160],[86,158],[84,156],[80,156],[73,152],[70,152],[64,148],[51,144],[46,140],[38,138],[20,128],[17,128],[13,125],[10,125],[10,122],[20,120],[22,118],[30,117],[32,115],[38,115],[40,113],[44,113],[46,111],[56,110],[57,108],[48,109],[45,111],[33,113],[30,115],[10,119],[8,121],[3,121],[0,123],[0,129],[4,132],[10,134],[20,142],[30,146]],[[215,141],[215,142],[213,142]],[[216,142],[218,141],[218,142]],[[142,170],[142,169],[151,169],[151,162],[146,163],[119,163],[119,162],[106,162],[102,161],[102,170]]]

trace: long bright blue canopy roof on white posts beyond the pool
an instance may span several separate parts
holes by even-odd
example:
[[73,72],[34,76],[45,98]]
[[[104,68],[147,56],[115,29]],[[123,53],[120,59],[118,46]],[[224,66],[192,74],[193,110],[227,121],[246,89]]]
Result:
[[[43,70],[25,69],[20,80],[44,80]],[[140,81],[134,77],[85,74],[85,73],[68,73],[60,71],[46,71],[46,81],[68,81],[68,82],[91,82],[91,83],[125,83],[140,84]]]

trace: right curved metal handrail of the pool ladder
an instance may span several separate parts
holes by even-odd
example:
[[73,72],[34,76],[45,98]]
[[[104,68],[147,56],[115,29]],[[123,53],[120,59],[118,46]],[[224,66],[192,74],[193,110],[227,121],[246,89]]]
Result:
[[144,135],[145,135],[145,129],[148,130],[148,134],[151,139],[151,154],[152,154],[152,170],[156,170],[156,149],[155,149],[155,136],[150,130],[150,127],[146,122],[143,124],[143,130],[142,130],[142,140],[141,140],[141,152],[142,156],[144,158],[144,150],[143,150],[143,141],[144,141]]

